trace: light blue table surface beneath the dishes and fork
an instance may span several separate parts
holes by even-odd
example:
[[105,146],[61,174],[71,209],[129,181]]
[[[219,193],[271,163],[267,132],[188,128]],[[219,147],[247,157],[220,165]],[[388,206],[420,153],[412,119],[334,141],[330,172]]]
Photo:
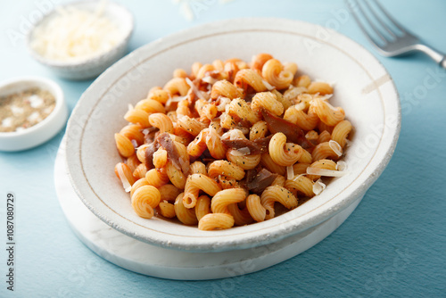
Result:
[[[183,0],[186,1],[186,0]],[[54,79],[70,111],[92,81],[54,77],[27,53],[12,30],[24,20],[63,1],[2,0],[0,79],[37,75]],[[269,269],[210,281],[146,277],[104,261],[71,232],[56,198],[54,159],[63,132],[44,145],[20,153],[0,153],[1,297],[446,297],[446,71],[422,54],[379,56],[351,15],[338,13],[344,2],[304,0],[204,1],[186,21],[172,1],[120,0],[135,14],[130,50],[180,29],[210,21],[269,16],[336,26],[383,62],[401,95],[402,126],[396,151],[383,175],[351,217],[307,252]],[[384,1],[382,1],[384,2]],[[446,52],[446,2],[394,0],[384,6],[406,27]],[[443,32],[443,33],[442,33]],[[6,290],[5,196],[16,203],[16,279]]]

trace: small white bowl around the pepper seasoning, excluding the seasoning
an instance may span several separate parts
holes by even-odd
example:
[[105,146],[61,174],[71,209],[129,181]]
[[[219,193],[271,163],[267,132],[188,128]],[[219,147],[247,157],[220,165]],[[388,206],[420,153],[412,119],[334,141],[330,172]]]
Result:
[[56,104],[45,120],[21,131],[0,132],[0,151],[20,151],[45,143],[54,137],[68,118],[68,108],[62,88],[54,81],[39,77],[8,79],[0,83],[0,97],[38,87],[54,95]]

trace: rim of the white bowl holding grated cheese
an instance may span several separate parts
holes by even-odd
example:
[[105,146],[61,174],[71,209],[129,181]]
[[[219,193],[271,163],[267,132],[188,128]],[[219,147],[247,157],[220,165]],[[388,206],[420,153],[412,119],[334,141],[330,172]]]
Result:
[[130,27],[128,29],[128,32],[125,32],[124,37],[120,40],[120,42],[118,44],[116,44],[115,46],[113,46],[110,50],[103,52],[102,54],[95,54],[87,59],[84,60],[79,60],[79,61],[69,61],[69,62],[62,62],[62,61],[57,61],[57,60],[52,60],[52,59],[48,59],[45,58],[44,56],[38,54],[31,46],[31,41],[33,38],[33,34],[35,29],[42,23],[44,22],[47,18],[49,18],[51,15],[53,15],[56,12],[56,8],[57,7],[68,7],[68,6],[76,6],[76,5],[81,5],[81,4],[99,4],[101,2],[101,0],[94,0],[94,1],[88,1],[88,0],[80,0],[80,1],[74,1],[74,2],[70,2],[67,4],[61,4],[61,5],[57,5],[56,7],[54,7],[50,12],[46,12],[45,15],[43,16],[43,18],[39,21],[37,21],[35,24],[33,24],[32,28],[27,32],[27,37],[26,37],[26,44],[27,44],[27,49],[29,54],[35,59],[37,60],[37,62],[40,62],[44,65],[47,66],[51,66],[53,68],[67,68],[67,67],[79,67],[79,66],[85,66],[87,64],[90,63],[97,63],[103,59],[106,59],[107,57],[111,56],[112,54],[115,54],[119,51],[119,49],[122,46],[126,46],[128,44],[128,41],[130,39],[130,37],[133,34],[133,31],[135,29],[135,17],[133,15],[132,12],[130,12],[130,10],[122,5],[122,4],[118,4],[115,2],[111,2],[111,1],[107,1],[106,5],[107,6],[116,6],[118,7],[121,11],[126,12],[125,15],[128,17],[128,21],[130,24]]

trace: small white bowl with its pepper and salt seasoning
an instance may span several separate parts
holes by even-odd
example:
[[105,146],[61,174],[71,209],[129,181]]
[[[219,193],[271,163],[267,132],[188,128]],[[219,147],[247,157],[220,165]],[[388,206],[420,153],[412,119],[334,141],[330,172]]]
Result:
[[21,151],[54,137],[68,118],[62,88],[39,77],[0,83],[0,151]]

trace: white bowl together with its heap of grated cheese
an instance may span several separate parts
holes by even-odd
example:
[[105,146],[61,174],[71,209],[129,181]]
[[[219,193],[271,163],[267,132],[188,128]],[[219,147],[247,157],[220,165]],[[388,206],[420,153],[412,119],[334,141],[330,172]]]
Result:
[[93,79],[126,54],[131,12],[108,1],[58,6],[29,32],[29,52],[65,79]]

